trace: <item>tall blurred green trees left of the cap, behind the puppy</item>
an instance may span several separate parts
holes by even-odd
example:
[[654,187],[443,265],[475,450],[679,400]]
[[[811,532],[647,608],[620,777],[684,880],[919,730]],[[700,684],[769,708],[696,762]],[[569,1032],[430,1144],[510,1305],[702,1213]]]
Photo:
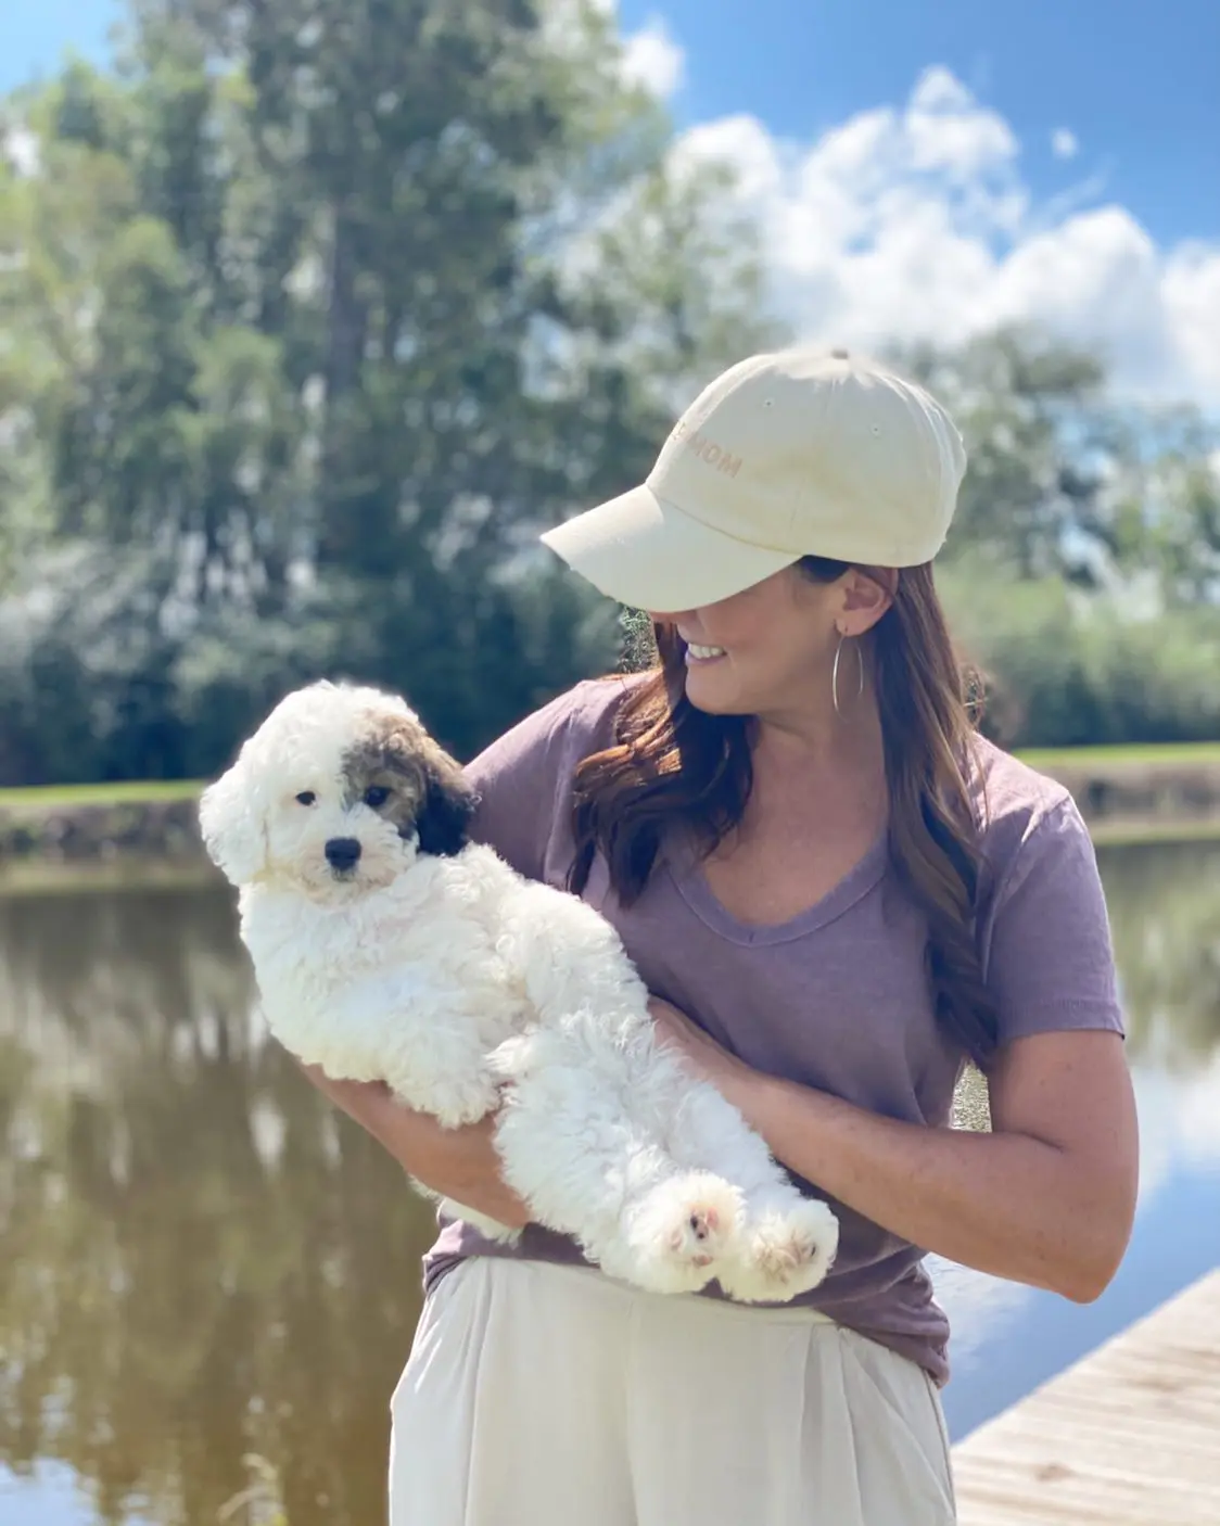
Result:
[[[599,6],[139,0],[118,73],[11,114],[0,465],[55,548],[14,542],[12,610],[75,542],[139,632],[73,595],[61,682],[127,652],[160,766],[208,772],[316,671],[408,687],[469,752],[611,656],[536,533],[773,331],[724,172],[673,160]],[[131,766],[95,734],[44,777]]]

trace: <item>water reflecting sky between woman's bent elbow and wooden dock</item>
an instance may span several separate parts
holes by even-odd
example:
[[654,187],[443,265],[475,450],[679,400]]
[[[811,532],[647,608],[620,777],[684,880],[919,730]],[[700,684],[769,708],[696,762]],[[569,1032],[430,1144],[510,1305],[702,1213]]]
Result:
[[954,1437],[1220,1265],[1220,844],[1115,847],[1099,859],[1139,1106],[1134,1235],[1086,1308],[931,1257],[954,1332]]

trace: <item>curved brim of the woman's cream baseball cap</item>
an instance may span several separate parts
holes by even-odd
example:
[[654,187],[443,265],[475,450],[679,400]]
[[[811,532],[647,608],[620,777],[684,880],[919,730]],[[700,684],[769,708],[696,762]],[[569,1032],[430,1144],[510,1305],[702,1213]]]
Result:
[[799,560],[710,530],[647,485],[548,530],[542,543],[608,598],[658,612],[716,604]]

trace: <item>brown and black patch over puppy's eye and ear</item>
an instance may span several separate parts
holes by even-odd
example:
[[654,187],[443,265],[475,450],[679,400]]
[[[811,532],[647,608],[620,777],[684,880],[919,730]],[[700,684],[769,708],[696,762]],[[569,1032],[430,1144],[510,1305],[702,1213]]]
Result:
[[363,801],[402,838],[418,835],[421,853],[452,856],[466,847],[478,798],[461,766],[414,717],[371,717],[342,769],[347,803]]

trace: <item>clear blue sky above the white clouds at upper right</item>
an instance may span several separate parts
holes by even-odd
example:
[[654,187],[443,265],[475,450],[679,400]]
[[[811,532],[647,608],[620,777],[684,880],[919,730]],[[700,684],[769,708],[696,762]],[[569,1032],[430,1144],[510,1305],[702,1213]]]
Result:
[[1104,174],[1159,240],[1220,233],[1218,0],[620,0],[628,31],[658,14],[684,118],[811,139],[942,64],[1008,121],[1037,191]]

